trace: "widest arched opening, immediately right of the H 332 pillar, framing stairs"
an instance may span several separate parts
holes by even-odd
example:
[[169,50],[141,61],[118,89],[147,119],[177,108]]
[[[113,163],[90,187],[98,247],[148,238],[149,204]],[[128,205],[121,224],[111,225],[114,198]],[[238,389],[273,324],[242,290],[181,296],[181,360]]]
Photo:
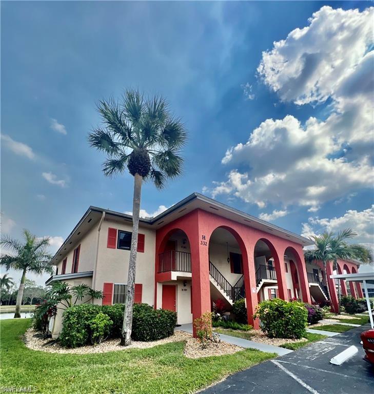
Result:
[[245,298],[243,254],[239,234],[229,227],[218,227],[209,243],[210,298],[212,309],[228,315],[234,301]]

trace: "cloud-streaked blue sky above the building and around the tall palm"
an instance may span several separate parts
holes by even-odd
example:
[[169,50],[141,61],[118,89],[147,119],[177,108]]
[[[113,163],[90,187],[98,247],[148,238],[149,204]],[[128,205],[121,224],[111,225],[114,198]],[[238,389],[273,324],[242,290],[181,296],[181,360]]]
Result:
[[[287,38],[326,5],[332,9],[314,16],[316,31],[309,29],[303,42]],[[3,232],[49,235],[55,250],[89,205],[131,209],[132,177],[105,178],[104,156],[86,137],[100,121],[97,100],[139,87],[164,95],[189,131],[183,176],[163,191],[144,187],[148,213],[204,191],[299,234],[350,225],[360,242],[372,244],[372,117],[355,107],[369,103],[372,85],[352,79],[367,69],[372,74],[364,17],[370,5],[2,2]],[[353,8],[359,11],[346,13]],[[338,24],[332,35],[330,18]],[[281,40],[285,45],[271,54]],[[330,51],[321,49],[329,44]],[[353,48],[356,56],[346,55]],[[287,66],[277,71],[279,56]],[[302,80],[299,63],[307,73]],[[365,116],[366,125],[355,129]],[[310,126],[310,117],[318,124]],[[266,143],[238,147],[257,128]],[[305,172],[309,163],[318,171]],[[268,181],[274,174],[281,186]]]

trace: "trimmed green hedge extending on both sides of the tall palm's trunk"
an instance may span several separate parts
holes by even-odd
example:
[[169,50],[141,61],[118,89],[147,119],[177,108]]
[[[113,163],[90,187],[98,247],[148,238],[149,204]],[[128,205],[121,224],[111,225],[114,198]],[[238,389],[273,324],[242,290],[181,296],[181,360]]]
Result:
[[[63,329],[60,334],[60,342],[65,347],[84,346],[92,342],[94,338],[108,337],[121,338],[123,314],[125,305],[74,305],[63,313]],[[93,330],[92,322],[98,314],[104,314],[106,320],[105,329],[101,334]],[[103,321],[103,317],[100,319]],[[96,322],[97,323],[97,322]],[[167,338],[174,332],[176,313],[170,310],[155,310],[148,304],[134,304],[132,317],[132,334],[134,341],[156,341]],[[94,340],[94,342],[97,342]]]

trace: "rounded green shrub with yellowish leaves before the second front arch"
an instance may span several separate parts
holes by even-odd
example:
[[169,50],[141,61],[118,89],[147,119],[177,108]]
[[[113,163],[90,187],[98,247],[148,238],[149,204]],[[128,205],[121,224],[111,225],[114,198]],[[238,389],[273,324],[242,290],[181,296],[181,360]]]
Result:
[[308,312],[302,302],[278,298],[261,302],[254,315],[269,338],[301,338],[305,333]]

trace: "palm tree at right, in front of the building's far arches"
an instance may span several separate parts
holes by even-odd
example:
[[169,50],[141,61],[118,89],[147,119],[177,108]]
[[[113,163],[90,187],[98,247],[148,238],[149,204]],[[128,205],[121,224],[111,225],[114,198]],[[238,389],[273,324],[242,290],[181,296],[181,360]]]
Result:
[[[348,240],[355,238],[356,236],[357,233],[350,228],[339,231],[337,234],[334,234],[331,231],[325,231],[321,235],[313,235],[310,239],[314,244],[316,244],[316,248],[305,250],[304,259],[309,263],[314,260],[322,261],[325,272],[329,261],[332,261],[333,269],[338,270],[338,259],[359,260],[365,264],[372,264],[373,256],[368,248],[359,244],[350,244],[348,242]],[[328,286],[327,293],[328,298],[331,300]]]

